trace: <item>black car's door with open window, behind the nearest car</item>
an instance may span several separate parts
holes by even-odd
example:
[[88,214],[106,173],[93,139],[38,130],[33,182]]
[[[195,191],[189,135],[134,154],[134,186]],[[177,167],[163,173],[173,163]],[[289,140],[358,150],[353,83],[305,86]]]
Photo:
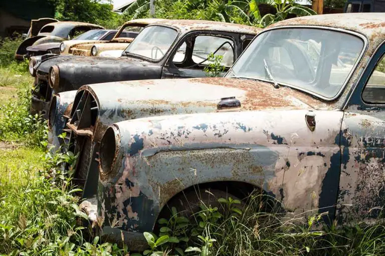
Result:
[[190,33],[176,44],[162,71],[162,78],[205,77],[205,68],[213,61],[210,53],[221,55],[224,72],[237,56],[237,40],[226,33]]

